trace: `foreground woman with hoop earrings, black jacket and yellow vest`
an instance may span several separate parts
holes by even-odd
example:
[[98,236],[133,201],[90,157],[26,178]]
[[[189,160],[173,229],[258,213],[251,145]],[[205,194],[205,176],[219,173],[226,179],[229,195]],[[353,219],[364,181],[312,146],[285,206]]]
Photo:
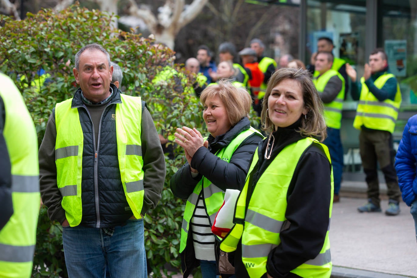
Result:
[[[221,242],[236,277],[330,277],[332,165],[323,105],[308,71],[282,68],[269,80],[254,154]],[[242,209],[244,208],[244,209]]]

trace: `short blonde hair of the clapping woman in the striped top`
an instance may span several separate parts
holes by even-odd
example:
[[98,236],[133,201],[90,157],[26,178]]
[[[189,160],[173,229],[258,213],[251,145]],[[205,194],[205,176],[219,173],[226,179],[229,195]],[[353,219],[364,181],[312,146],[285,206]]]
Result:
[[203,104],[209,98],[219,97],[223,102],[230,125],[234,126],[242,118],[249,118],[252,99],[244,87],[236,88],[230,80],[221,79],[219,84],[210,85],[200,95],[200,102]]

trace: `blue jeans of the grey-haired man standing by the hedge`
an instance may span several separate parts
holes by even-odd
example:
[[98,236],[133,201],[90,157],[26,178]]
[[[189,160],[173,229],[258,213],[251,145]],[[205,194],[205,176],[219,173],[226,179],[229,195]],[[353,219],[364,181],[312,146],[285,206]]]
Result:
[[143,218],[116,226],[112,236],[102,228],[63,228],[68,276],[103,278],[106,263],[111,277],[148,277]]

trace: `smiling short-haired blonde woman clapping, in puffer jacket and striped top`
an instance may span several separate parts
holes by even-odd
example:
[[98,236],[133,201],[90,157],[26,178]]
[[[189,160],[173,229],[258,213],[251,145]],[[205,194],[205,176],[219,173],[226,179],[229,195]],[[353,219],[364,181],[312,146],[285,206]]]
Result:
[[171,179],[174,196],[188,200],[181,227],[183,277],[201,265],[203,278],[215,278],[219,238],[211,232],[227,188],[241,189],[249,161],[263,136],[249,123],[251,97],[230,82],[208,86],[200,96],[210,133],[205,140],[195,128],[177,128],[176,142],[187,163]]

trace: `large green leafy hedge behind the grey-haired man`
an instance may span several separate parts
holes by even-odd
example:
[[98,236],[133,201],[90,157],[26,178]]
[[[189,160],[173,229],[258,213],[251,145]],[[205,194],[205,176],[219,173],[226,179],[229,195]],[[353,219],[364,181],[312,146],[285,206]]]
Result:
[[[55,103],[72,97],[75,92],[72,71],[75,53],[83,45],[95,42],[103,45],[111,59],[121,66],[122,88],[130,88],[122,91],[140,95],[148,103],[158,130],[165,130],[169,135],[175,132],[176,127],[188,125],[204,131],[201,105],[193,93],[175,92],[175,84],[171,84],[171,80],[159,84],[158,88],[154,88],[150,81],[161,70],[161,65],[172,62],[174,53],[161,45],[153,45],[153,40],[133,32],[112,30],[111,18],[107,13],[78,5],[59,13],[42,10],[36,15],[28,14],[22,21],[0,15],[0,71],[15,80],[22,92],[36,126],[39,143]],[[68,59],[72,62],[66,67]],[[181,76],[185,76],[183,70],[175,67]],[[38,78],[36,73],[40,68],[50,73],[52,82],[36,88],[32,84]],[[153,97],[155,91],[164,98]],[[158,105],[150,104],[156,103],[164,109],[153,110]],[[169,180],[185,159],[178,146],[174,153],[174,160],[166,157],[167,175],[162,199],[158,207],[145,217],[145,246],[154,277],[161,277],[160,270],[166,273],[166,263],[180,268],[178,248],[185,203],[173,197]],[[33,276],[67,276],[62,228],[59,223],[50,222],[45,207],[40,210]]]

